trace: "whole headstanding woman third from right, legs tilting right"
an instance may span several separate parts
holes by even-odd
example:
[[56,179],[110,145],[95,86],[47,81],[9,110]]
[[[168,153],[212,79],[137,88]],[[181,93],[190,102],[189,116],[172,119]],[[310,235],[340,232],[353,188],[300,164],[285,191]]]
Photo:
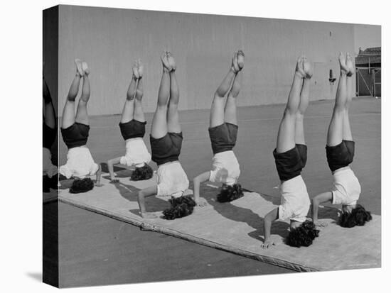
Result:
[[205,181],[221,183],[218,201],[227,202],[243,196],[237,180],[240,165],[233,152],[237,140],[236,99],[240,92],[245,53],[234,53],[230,67],[213,96],[210,107],[209,137],[213,150],[212,170],[203,172],[193,179],[194,199],[198,206],[205,206],[200,199],[200,184]]

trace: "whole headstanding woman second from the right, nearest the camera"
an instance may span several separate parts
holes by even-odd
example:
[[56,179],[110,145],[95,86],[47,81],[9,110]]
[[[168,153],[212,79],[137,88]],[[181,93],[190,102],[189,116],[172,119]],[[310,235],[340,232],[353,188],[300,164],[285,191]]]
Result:
[[262,248],[276,245],[271,238],[272,222],[290,220],[290,232],[286,244],[301,247],[311,245],[318,231],[307,221],[309,194],[301,170],[306,165],[307,146],[304,139],[304,114],[309,104],[309,84],[312,77],[311,63],[305,56],[296,62],[294,79],[286,108],[277,134],[277,146],[273,151],[277,174],[280,179],[281,204],[264,217],[264,243]]

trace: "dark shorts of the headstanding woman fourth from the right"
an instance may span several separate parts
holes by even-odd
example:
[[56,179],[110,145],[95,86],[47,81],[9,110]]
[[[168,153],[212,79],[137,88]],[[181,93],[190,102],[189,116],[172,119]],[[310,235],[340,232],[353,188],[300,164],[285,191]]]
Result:
[[169,132],[162,138],[153,138],[151,140],[152,160],[157,165],[162,165],[166,162],[175,162],[181,155],[182,148],[182,133]]

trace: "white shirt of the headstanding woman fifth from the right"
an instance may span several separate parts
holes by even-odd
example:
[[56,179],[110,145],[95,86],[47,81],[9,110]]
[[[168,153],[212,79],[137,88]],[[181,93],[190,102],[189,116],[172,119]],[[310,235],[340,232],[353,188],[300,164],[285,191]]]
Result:
[[143,138],[130,138],[126,140],[126,154],[121,157],[120,163],[129,167],[142,167],[151,162],[149,153]]

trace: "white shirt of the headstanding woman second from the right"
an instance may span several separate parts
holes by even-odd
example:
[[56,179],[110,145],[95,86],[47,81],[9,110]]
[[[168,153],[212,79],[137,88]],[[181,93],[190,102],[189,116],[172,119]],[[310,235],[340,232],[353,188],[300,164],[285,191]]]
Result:
[[306,221],[309,212],[309,194],[301,175],[282,182],[279,187],[281,204],[279,205],[279,219],[293,221]]

